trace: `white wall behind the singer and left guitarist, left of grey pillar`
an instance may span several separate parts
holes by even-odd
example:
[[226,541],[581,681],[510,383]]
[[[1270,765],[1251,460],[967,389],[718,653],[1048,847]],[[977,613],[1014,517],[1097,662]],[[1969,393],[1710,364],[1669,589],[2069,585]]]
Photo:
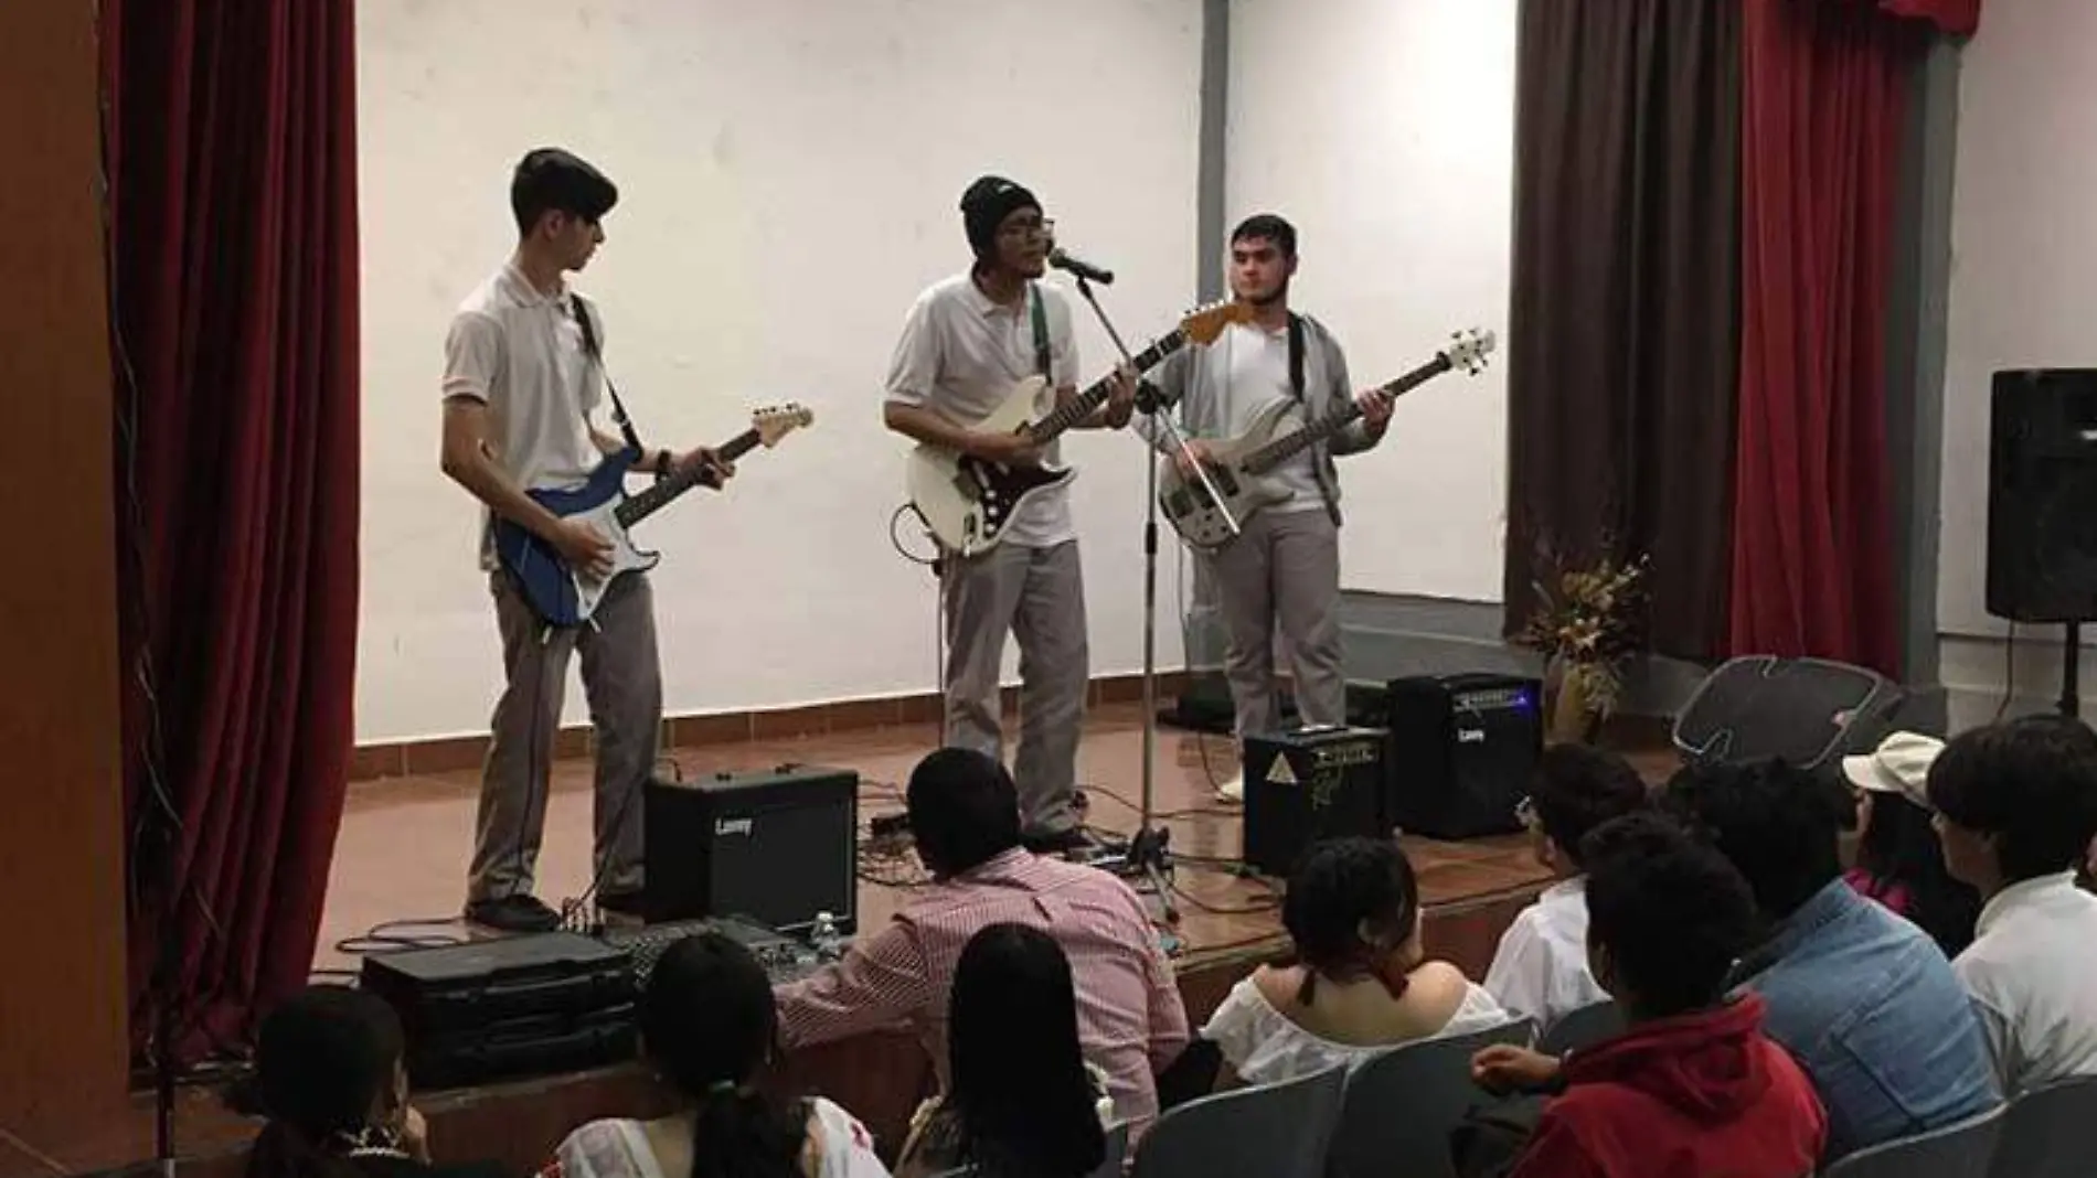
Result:
[[[650,440],[797,398],[812,432],[646,524],[667,708],[933,688],[933,595],[889,547],[879,388],[912,296],[967,262],[979,172],[1122,277],[1124,333],[1195,285],[1199,0],[363,0],[359,740],[482,732],[499,685],[476,511],[436,470],[445,327],[514,241],[507,176],[564,145],[621,184],[583,289]],[[1082,310],[1082,308],[1080,308]],[[1134,342],[1134,340],[1132,340]],[[1088,373],[1103,335],[1080,321]],[[1141,664],[1141,449],[1082,434],[1093,671]],[[1166,562],[1160,597],[1176,597]],[[1179,660],[1162,616],[1160,662]],[[581,721],[581,694],[570,694]]]

